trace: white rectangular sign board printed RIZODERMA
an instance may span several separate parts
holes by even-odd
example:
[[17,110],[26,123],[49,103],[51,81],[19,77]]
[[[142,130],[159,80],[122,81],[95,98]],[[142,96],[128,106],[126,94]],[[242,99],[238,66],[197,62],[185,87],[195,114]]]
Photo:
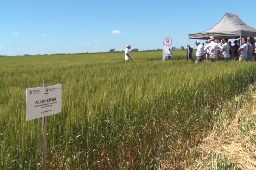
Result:
[[61,112],[62,85],[26,89],[26,120]]

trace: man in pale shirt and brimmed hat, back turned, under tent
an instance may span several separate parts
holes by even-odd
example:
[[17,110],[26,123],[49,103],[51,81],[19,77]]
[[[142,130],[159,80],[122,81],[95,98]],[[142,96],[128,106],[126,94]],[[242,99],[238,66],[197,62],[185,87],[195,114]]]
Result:
[[[204,47],[204,53],[208,52],[209,58],[211,62],[217,61],[217,53],[218,53],[218,48],[220,49],[220,52],[222,52],[222,47],[215,42],[215,39],[213,36],[210,37],[210,43],[208,43]],[[209,51],[208,51],[209,50]]]

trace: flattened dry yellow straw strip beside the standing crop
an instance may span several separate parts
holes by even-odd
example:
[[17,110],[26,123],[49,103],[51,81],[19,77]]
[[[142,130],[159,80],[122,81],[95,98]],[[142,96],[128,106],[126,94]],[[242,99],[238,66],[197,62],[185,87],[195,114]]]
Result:
[[214,110],[213,128],[190,150],[186,169],[255,169],[255,87]]

